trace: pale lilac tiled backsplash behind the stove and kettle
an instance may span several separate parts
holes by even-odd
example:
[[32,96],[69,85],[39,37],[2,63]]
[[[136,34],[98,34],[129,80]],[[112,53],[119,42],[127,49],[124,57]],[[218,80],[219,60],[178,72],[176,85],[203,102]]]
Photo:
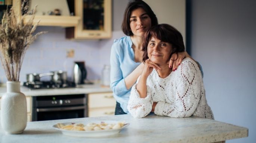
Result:
[[[26,81],[28,73],[46,73],[50,71],[67,71],[72,78],[74,61],[85,61],[87,79],[98,80],[104,65],[110,64],[110,50],[114,39],[124,36],[122,31],[113,31],[108,40],[68,40],[62,27],[37,27],[37,32],[48,33],[38,38],[28,48],[22,64],[20,81]],[[74,50],[74,57],[67,58],[67,51]],[[49,77],[42,77],[48,80]],[[4,69],[0,67],[0,83],[7,81]]]

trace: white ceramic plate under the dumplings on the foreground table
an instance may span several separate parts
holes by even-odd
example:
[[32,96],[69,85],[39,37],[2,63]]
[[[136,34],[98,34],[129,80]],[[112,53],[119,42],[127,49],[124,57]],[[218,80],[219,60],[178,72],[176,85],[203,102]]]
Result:
[[[119,121],[104,121],[105,123],[108,124],[117,124]],[[88,123],[83,123],[83,122],[77,122],[76,124],[88,124]],[[96,124],[99,124],[101,122],[94,122]],[[71,122],[69,123],[62,123],[64,125],[68,125],[71,124]],[[119,133],[122,129],[124,129],[125,127],[129,126],[129,123],[125,123],[123,127],[121,127],[120,129],[110,129],[110,130],[93,130],[93,131],[72,131],[72,130],[63,130],[63,129],[59,129],[57,124],[53,125],[53,128],[56,130],[61,131],[63,134],[67,135],[67,136],[75,136],[75,137],[103,137],[103,136],[110,136],[113,134],[117,134]]]

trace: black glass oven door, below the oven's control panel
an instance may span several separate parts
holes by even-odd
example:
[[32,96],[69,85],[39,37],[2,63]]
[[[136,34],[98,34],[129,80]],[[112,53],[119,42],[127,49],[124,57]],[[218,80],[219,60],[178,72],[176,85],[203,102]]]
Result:
[[68,118],[86,117],[86,106],[72,107],[52,107],[52,108],[36,108],[34,109],[32,121],[59,120]]

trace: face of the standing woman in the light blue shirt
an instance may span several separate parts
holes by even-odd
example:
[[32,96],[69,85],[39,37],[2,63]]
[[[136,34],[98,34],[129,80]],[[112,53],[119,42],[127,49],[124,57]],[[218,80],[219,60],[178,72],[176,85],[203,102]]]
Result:
[[144,36],[146,30],[151,27],[151,18],[145,10],[138,8],[132,11],[130,16],[130,28],[133,35]]

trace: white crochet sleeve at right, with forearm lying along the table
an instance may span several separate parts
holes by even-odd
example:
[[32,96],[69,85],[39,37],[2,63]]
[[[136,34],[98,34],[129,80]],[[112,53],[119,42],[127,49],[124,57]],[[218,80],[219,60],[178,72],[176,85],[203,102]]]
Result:
[[165,101],[159,101],[154,113],[159,116],[189,117],[200,101],[201,74],[194,61],[184,59],[166,81]]

